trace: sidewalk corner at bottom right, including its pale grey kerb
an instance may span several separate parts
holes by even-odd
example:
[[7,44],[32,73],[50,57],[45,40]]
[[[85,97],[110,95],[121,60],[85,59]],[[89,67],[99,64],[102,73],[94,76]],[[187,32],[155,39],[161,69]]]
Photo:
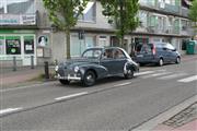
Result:
[[146,121],[132,131],[197,131],[197,95]]

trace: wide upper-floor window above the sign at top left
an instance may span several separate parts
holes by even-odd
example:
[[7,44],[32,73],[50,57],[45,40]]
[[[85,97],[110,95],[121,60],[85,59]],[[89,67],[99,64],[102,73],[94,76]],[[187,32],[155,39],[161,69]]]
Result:
[[0,13],[10,13],[10,14],[35,13],[35,0],[1,0]]

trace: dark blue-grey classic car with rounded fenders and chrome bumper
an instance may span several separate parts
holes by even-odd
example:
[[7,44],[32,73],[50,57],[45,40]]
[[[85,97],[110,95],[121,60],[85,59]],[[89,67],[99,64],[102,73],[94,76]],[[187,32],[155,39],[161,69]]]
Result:
[[107,76],[131,79],[138,70],[138,64],[119,47],[89,48],[80,59],[66,60],[56,67],[61,84],[81,81],[84,86],[92,86],[96,80]]

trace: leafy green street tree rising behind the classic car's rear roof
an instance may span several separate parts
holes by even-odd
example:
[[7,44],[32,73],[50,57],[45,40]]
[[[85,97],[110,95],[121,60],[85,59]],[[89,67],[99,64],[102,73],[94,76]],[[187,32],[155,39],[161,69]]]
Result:
[[138,0],[101,0],[101,3],[104,9],[103,14],[108,17],[108,23],[116,26],[116,34],[123,47],[125,34],[135,31],[139,25]]

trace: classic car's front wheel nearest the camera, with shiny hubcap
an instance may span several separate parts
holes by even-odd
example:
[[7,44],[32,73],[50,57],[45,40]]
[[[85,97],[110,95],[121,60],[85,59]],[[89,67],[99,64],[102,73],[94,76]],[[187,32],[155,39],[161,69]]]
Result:
[[86,71],[84,73],[83,80],[82,80],[82,84],[83,86],[92,86],[95,84],[96,81],[96,75],[93,71]]

